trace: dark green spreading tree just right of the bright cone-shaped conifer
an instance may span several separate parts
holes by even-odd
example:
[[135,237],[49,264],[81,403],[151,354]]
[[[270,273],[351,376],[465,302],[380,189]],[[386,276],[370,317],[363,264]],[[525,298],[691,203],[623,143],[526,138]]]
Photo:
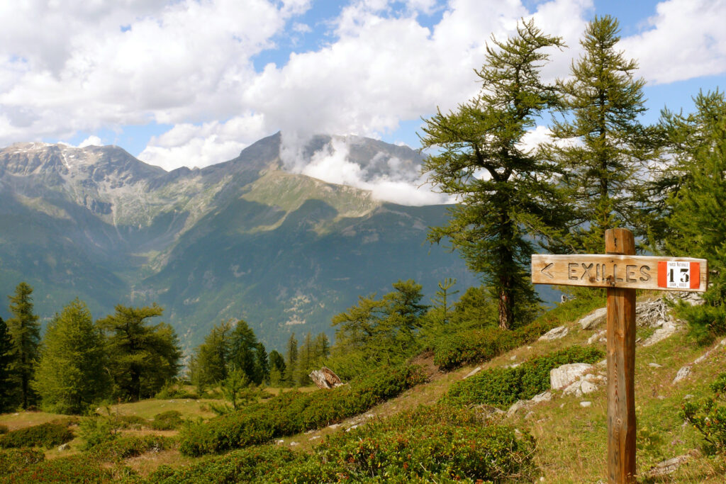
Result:
[[161,313],[158,305],[119,304],[115,314],[97,323],[107,334],[110,372],[121,398],[150,398],[179,372],[181,350],[174,329],[166,323],[147,325],[148,318]]

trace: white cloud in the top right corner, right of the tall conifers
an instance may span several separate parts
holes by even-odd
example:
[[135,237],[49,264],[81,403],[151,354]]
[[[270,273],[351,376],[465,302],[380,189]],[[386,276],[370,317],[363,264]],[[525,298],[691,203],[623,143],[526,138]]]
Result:
[[658,4],[645,32],[623,38],[651,83],[671,83],[726,72],[726,1],[668,0]]

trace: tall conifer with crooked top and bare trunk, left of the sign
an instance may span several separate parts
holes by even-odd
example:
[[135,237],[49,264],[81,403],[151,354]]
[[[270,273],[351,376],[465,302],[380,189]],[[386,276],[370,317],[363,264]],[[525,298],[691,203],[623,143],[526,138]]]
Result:
[[423,171],[435,188],[457,197],[449,223],[429,232],[432,242],[450,239],[471,270],[482,274],[498,300],[499,327],[512,327],[518,305],[537,300],[529,282],[532,236],[551,239],[568,220],[553,182],[556,167],[521,144],[538,116],[555,106],[555,89],[542,82],[543,49],[562,46],[533,22],[517,36],[487,46],[476,71],[480,94],[444,115],[426,120]]

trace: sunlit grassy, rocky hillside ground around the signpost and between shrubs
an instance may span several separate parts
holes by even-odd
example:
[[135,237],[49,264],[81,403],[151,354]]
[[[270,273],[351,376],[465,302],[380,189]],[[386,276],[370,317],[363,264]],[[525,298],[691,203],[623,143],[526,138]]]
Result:
[[[726,469],[723,458],[705,454],[704,440],[701,434],[696,431],[693,425],[684,424],[682,418],[679,417],[679,411],[683,402],[699,401],[711,394],[711,390],[709,390],[711,382],[716,379],[717,374],[726,372],[726,343],[717,340],[711,345],[698,346],[693,343],[693,340],[690,340],[685,327],[678,321],[674,321],[670,316],[666,315],[666,318],[661,319],[660,323],[658,323],[658,318],[648,318],[648,315],[645,314],[648,311],[643,311],[643,309],[655,310],[650,311],[652,315],[664,307],[660,303],[653,301],[655,299],[652,295],[645,295],[644,298],[639,300],[641,311],[637,329],[639,341],[635,369],[639,481],[651,483],[721,483]],[[374,470],[375,467],[370,469],[369,472],[376,475],[377,472],[383,472],[388,464],[397,462],[402,465],[404,462],[416,462],[416,459],[423,459],[425,452],[428,451],[420,448],[415,440],[419,440],[424,444],[428,442],[429,446],[433,446],[431,451],[439,445],[434,435],[428,435],[428,437],[417,435],[415,440],[401,440],[415,435],[410,434],[412,431],[420,432],[422,429],[429,428],[427,425],[422,427],[417,422],[417,418],[420,417],[416,416],[420,415],[422,411],[434,422],[436,419],[442,418],[439,414],[436,414],[435,410],[432,410],[432,413],[432,411],[420,409],[420,405],[431,406],[431,409],[436,409],[437,404],[444,404],[444,408],[448,409],[447,412],[455,412],[454,407],[446,406],[449,403],[442,402],[452,398],[451,395],[456,391],[460,393],[460,390],[456,389],[460,389],[462,385],[468,385],[470,388],[472,385],[473,387],[484,385],[486,377],[483,376],[488,372],[498,372],[507,367],[525,367],[528,361],[535,361],[542,358],[542,356],[552,355],[557,352],[562,353],[566,348],[573,348],[578,345],[590,348],[591,351],[597,351],[598,348],[604,350],[604,342],[600,335],[600,332],[604,329],[604,323],[602,321],[597,322],[597,319],[595,319],[595,322],[587,329],[583,329],[580,323],[582,316],[592,313],[592,308],[597,308],[602,303],[602,299],[595,298],[592,300],[575,300],[560,305],[544,316],[544,320],[548,321],[549,327],[566,328],[566,332],[562,329],[555,332],[558,335],[566,333],[562,337],[555,337],[554,339],[540,338],[533,343],[506,351],[489,361],[461,366],[450,372],[442,371],[433,363],[436,353],[424,353],[415,358],[412,363],[419,365],[423,369],[425,382],[404,390],[398,396],[388,398],[382,403],[371,406],[360,414],[348,418],[334,419],[333,424],[314,427],[310,431],[292,432],[289,435],[274,438],[274,445],[272,446],[235,450],[224,456],[184,456],[179,453],[179,443],[174,440],[176,431],[154,432],[153,430],[145,430],[150,422],[144,420],[140,421],[142,422],[140,430],[123,430],[123,435],[140,436],[145,439],[143,442],[146,443],[143,445],[141,443],[135,444],[134,448],[136,450],[125,451],[126,454],[123,455],[126,456],[121,456],[121,458],[111,459],[105,457],[104,459],[108,459],[108,462],[110,462],[107,466],[108,469],[115,469],[113,470],[115,475],[119,475],[118,472],[122,472],[123,475],[139,472],[140,475],[150,477],[149,482],[180,482],[179,480],[199,482],[200,476],[205,476],[203,478],[205,482],[218,482],[222,475],[227,475],[227,478],[235,480],[249,480],[244,482],[268,482],[262,477],[258,479],[254,476],[267,475],[265,472],[270,472],[269,467],[273,462],[273,467],[278,467],[278,470],[282,472],[279,475],[286,475],[290,480],[293,475],[297,475],[298,482],[317,482],[311,477],[308,477],[308,479],[301,478],[302,475],[316,475],[315,472],[319,471],[313,471],[312,467],[301,468],[300,462],[310,462],[311,466],[317,464],[319,467],[322,465],[322,461],[319,459],[337,458],[335,457],[337,454],[333,449],[340,447],[341,449],[348,448],[351,450],[354,448],[350,447],[353,445],[352,443],[357,443],[358,451],[364,453],[361,456],[362,462],[368,459],[370,454],[370,459],[374,459],[375,456],[375,461],[383,465],[378,471]],[[663,313],[660,312],[660,315],[663,316]],[[658,327],[653,327],[653,323]],[[674,324],[672,325],[672,323]],[[674,326],[675,331],[671,335],[664,337],[664,339],[655,342],[658,335],[665,335],[666,333],[661,329],[667,329],[670,326]],[[677,375],[688,373],[682,370],[683,368],[689,368],[690,374],[678,381],[674,381],[677,379]],[[518,410],[510,408],[510,405],[499,406],[503,413],[495,410],[497,406],[469,406],[470,410],[467,410],[467,412],[473,411],[474,414],[478,415],[476,417],[478,423],[475,424],[472,421],[469,424],[462,424],[462,421],[457,420],[460,417],[454,418],[451,416],[447,417],[449,418],[449,424],[441,428],[449,429],[446,432],[463,432],[457,438],[474,435],[469,434],[469,430],[465,430],[474,428],[479,429],[476,432],[489,432],[487,429],[501,427],[502,429],[512,429],[513,435],[520,435],[521,438],[531,435],[535,443],[534,453],[529,456],[526,456],[527,454],[522,455],[526,456],[532,467],[524,471],[526,474],[521,474],[521,477],[514,477],[515,475],[510,474],[512,476],[510,479],[513,482],[537,481],[593,484],[605,482],[605,449],[607,446],[605,414],[607,406],[605,385],[601,378],[604,374],[604,367],[596,363],[592,365],[590,372],[587,374],[592,378],[590,376],[581,378],[579,384],[574,385],[581,390],[580,393],[572,390],[574,387],[572,385],[570,390],[550,390],[546,395],[542,394],[545,395],[544,397],[536,398],[537,403],[535,401],[518,403],[515,406]],[[575,382],[578,382],[578,380],[575,379]],[[594,382],[594,385],[586,388],[583,382]],[[547,386],[549,386],[549,382],[547,382]],[[480,388],[484,387],[480,386]],[[333,390],[315,390],[304,395],[314,396],[330,391]],[[582,391],[586,393],[583,394]],[[502,393],[499,398],[505,396],[505,393]],[[333,394],[330,395],[332,398]],[[314,399],[309,401],[314,401]],[[122,415],[127,419],[131,419],[132,416],[151,419],[153,415],[162,411],[177,410],[187,418],[203,417],[206,419],[211,417],[211,414],[205,411],[207,408],[208,401],[174,398],[112,406],[110,411],[112,414]],[[104,413],[101,409],[99,411]],[[0,416],[0,424],[5,424],[13,430],[58,417],[60,416],[50,414],[7,414]],[[492,424],[495,427],[491,427]],[[471,427],[471,425],[474,427]],[[398,447],[387,440],[387,432],[391,431],[394,436],[393,442],[396,442],[396,438],[398,439]],[[158,435],[157,439],[161,440],[149,440],[149,435]],[[182,449],[184,439],[187,439],[188,435],[188,433],[185,434],[182,431]],[[395,437],[396,435],[398,437]],[[477,433],[476,435],[479,435],[479,437],[472,440],[470,444],[465,444],[468,440],[460,441],[462,447],[456,447],[460,444],[455,444],[454,448],[458,450],[457,454],[454,455],[461,455],[464,458],[461,461],[462,463],[468,462],[467,459],[478,459],[477,456],[480,455],[478,453],[481,452],[481,449],[489,445],[487,439],[493,438],[491,433],[486,434],[489,435],[487,438],[484,438],[484,434]],[[503,438],[505,434],[497,433],[496,435]],[[169,440],[170,438],[171,440]],[[454,442],[459,442],[457,438],[452,440],[452,445],[454,445]],[[126,440],[116,440],[116,442],[117,445],[121,445]],[[70,451],[58,451],[56,449],[46,451],[46,459],[52,459],[51,462],[58,462],[56,467],[52,467],[56,469],[54,472],[60,472],[57,469],[63,468],[60,463],[65,462],[65,459],[73,459],[73,456],[76,455],[83,458],[86,455],[79,450],[82,443],[83,439],[76,438],[70,442]],[[471,447],[466,450],[468,445]],[[293,454],[286,454],[286,449],[292,450]],[[332,451],[333,454],[331,454]],[[422,451],[424,454],[417,454]],[[439,449],[439,451],[443,451],[443,449]],[[518,452],[514,448],[509,451],[515,452],[515,454]],[[352,459],[351,464],[346,472],[354,473],[356,472],[356,465],[358,465],[354,464],[354,462],[359,462],[357,460],[359,456],[354,453],[351,454],[350,458]],[[677,462],[665,467],[665,470],[669,471],[669,473],[660,477],[656,476],[658,471],[654,469],[658,469],[658,464],[673,458],[677,458]],[[474,461],[471,462],[473,465]],[[167,467],[160,467],[162,465]],[[126,466],[126,470],[122,471],[121,469],[124,466]],[[267,470],[263,474],[256,474],[256,472],[263,472],[259,466],[263,466]],[[661,465],[661,467],[664,466]],[[43,469],[50,468],[46,464]],[[288,468],[290,470],[285,471]],[[179,469],[185,470],[182,472]],[[293,469],[295,470],[293,471]],[[47,475],[43,472],[48,472],[47,470],[41,470],[41,467],[30,467],[29,472],[30,470],[32,472],[41,472],[41,476]],[[521,469],[518,472],[523,470]],[[285,472],[288,472],[288,474],[285,474]],[[289,474],[289,472],[295,472],[295,474]],[[309,474],[305,474],[306,472],[309,472]],[[186,477],[182,478],[182,476]],[[370,475],[365,478],[354,477],[352,480],[366,482],[369,478]],[[436,482],[449,482],[449,480],[441,479],[440,475],[433,480],[436,480]],[[422,482],[424,481],[430,482],[428,480]],[[508,482],[508,480],[505,481]],[[14,480],[12,482],[24,481]],[[473,482],[473,480],[469,482]]]

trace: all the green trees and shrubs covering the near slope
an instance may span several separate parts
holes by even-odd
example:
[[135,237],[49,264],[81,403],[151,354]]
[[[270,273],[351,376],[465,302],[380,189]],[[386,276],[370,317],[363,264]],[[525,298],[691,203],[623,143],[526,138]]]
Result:
[[[457,199],[448,223],[431,227],[428,241],[457,251],[481,277],[478,287],[460,288],[445,279],[427,298],[414,280],[391,282],[390,292],[361,295],[333,318],[332,343],[323,333],[301,335],[301,341],[293,334],[282,351],[268,351],[242,319],[220,321],[181,373],[174,329],[150,321],[163,308],[118,305],[115,313],[94,320],[74,300],[41,339],[33,289],[20,282],[9,295],[12,316],[0,319],[0,413],[41,409],[80,417],[48,423],[33,435],[35,427],[2,435],[0,480],[538,479],[549,464],[542,464],[546,451],[535,430],[483,420],[481,411],[506,410],[542,394],[558,366],[596,364],[605,358],[597,345],[552,346],[516,366],[480,367],[426,405],[350,432],[331,431],[306,451],[273,443],[340,425],[431,383],[433,373],[417,361],[430,359],[445,378],[509,352],[516,356],[550,329],[600,307],[604,292],[581,288],[568,290],[566,302],[555,308],[544,305],[530,282],[530,257],[604,253],[605,230],[616,227],[635,234],[640,253],[707,259],[704,303],[676,300],[669,311],[685,321],[683,344],[689,348],[708,348],[726,336],[726,99],[721,91],[698,92],[693,112],[665,109],[657,124],[644,126],[639,118],[645,80],[637,78],[637,60],[624,57],[618,42],[617,20],[595,17],[570,75],[547,83],[541,75],[547,53],[566,46],[522,21],[517,35],[492,40],[487,48],[476,71],[478,96],[425,120],[423,173]],[[541,122],[549,123],[549,139],[527,144],[527,133]],[[321,366],[346,385],[311,391],[309,373]],[[693,482],[717,482],[726,471],[724,360],[714,368],[716,374],[703,382],[702,401],[674,403],[666,412],[690,424],[689,438],[711,459]],[[179,412],[159,413],[134,423],[118,410],[100,411],[149,398],[212,399],[211,415],[181,419]],[[134,425],[178,432],[124,434]],[[37,450],[73,439],[71,427],[83,442],[78,454],[46,459]],[[639,459],[657,462],[665,434],[646,426]],[[143,475],[124,464],[152,448],[174,449],[186,460]]]

